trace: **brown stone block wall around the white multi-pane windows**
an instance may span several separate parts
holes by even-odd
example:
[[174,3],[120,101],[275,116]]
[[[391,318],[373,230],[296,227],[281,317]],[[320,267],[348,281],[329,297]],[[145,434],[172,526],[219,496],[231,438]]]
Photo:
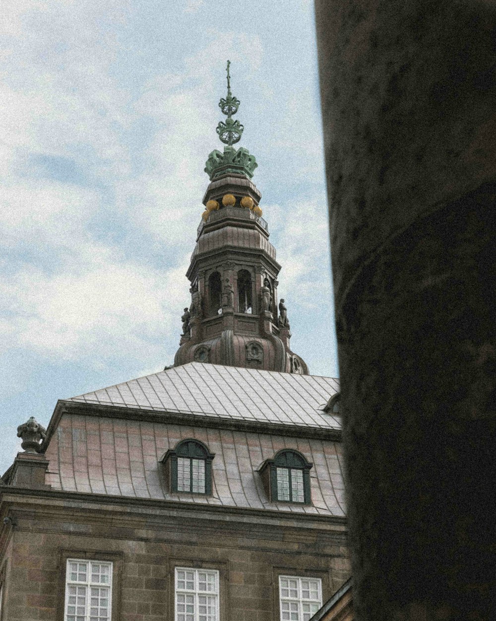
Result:
[[[219,570],[221,619],[279,619],[278,574],[322,579],[330,597],[348,577],[343,528],[294,528],[245,520],[178,517],[177,511],[95,506],[9,494],[17,524],[9,540],[2,610],[9,621],[63,621],[66,558],[114,563],[113,614],[120,621],[174,619],[175,566]],[[36,506],[33,513],[32,507]],[[318,554],[316,555],[316,551]]]

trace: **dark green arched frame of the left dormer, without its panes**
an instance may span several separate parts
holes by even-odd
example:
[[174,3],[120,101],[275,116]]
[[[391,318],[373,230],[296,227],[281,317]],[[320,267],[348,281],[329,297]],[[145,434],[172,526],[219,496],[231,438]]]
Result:
[[[178,490],[177,489],[177,460],[178,458],[186,458],[190,460],[190,490]],[[169,449],[167,453],[161,458],[161,463],[164,464],[165,474],[167,482],[169,483],[169,489],[171,492],[177,492],[179,494],[201,494],[202,496],[211,496],[212,494],[212,460],[215,457],[214,453],[210,453],[208,448],[200,442],[200,440],[181,440],[177,443],[174,450]],[[205,464],[205,491],[193,492],[193,462],[191,460],[201,460]]]

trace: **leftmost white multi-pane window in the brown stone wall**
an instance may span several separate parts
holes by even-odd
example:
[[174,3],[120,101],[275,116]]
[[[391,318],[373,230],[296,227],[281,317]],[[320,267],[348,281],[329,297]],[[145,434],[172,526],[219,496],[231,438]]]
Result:
[[112,563],[68,559],[64,621],[110,621]]

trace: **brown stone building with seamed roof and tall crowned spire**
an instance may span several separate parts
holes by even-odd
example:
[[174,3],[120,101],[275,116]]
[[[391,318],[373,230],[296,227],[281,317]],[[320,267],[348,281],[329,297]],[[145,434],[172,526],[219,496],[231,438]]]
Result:
[[2,621],[308,621],[349,577],[339,384],[290,349],[229,65],[220,106],[174,366],[19,426]]

